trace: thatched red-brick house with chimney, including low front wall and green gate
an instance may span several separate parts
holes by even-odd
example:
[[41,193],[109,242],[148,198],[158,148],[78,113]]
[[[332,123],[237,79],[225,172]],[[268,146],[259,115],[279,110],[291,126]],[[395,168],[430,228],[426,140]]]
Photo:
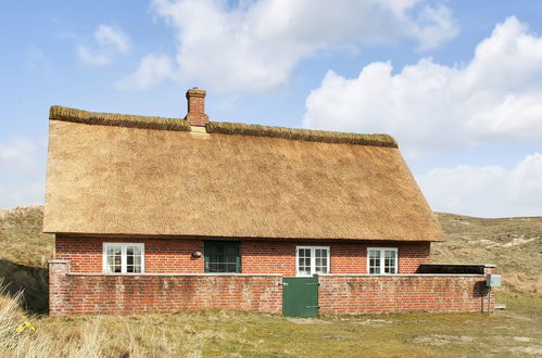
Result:
[[[52,106],[50,312],[476,311],[476,274],[418,273],[442,230],[387,135]],[[426,269],[427,271],[427,269]]]

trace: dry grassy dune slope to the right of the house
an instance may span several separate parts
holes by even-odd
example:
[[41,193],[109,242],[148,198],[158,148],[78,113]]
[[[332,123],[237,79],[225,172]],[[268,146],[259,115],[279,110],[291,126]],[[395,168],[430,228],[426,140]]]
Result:
[[542,217],[438,218],[448,241],[432,244],[432,261],[495,264],[507,291],[542,297]]

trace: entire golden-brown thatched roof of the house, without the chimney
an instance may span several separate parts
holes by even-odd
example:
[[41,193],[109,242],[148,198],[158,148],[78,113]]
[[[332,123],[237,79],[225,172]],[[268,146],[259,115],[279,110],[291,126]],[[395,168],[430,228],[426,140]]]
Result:
[[442,240],[389,136],[86,113],[51,108],[46,232]]

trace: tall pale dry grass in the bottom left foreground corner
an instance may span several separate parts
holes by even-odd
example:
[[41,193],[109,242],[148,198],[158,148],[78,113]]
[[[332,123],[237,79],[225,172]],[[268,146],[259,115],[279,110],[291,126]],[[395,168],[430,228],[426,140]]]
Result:
[[21,298],[0,287],[0,357],[199,356],[206,338],[205,333],[172,336],[144,317],[136,324],[134,317],[26,317]]

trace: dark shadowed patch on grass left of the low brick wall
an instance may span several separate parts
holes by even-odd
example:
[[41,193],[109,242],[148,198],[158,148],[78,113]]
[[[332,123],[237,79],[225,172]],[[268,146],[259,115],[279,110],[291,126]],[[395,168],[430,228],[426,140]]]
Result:
[[9,294],[23,291],[23,305],[31,314],[48,312],[49,270],[0,259],[0,280]]

